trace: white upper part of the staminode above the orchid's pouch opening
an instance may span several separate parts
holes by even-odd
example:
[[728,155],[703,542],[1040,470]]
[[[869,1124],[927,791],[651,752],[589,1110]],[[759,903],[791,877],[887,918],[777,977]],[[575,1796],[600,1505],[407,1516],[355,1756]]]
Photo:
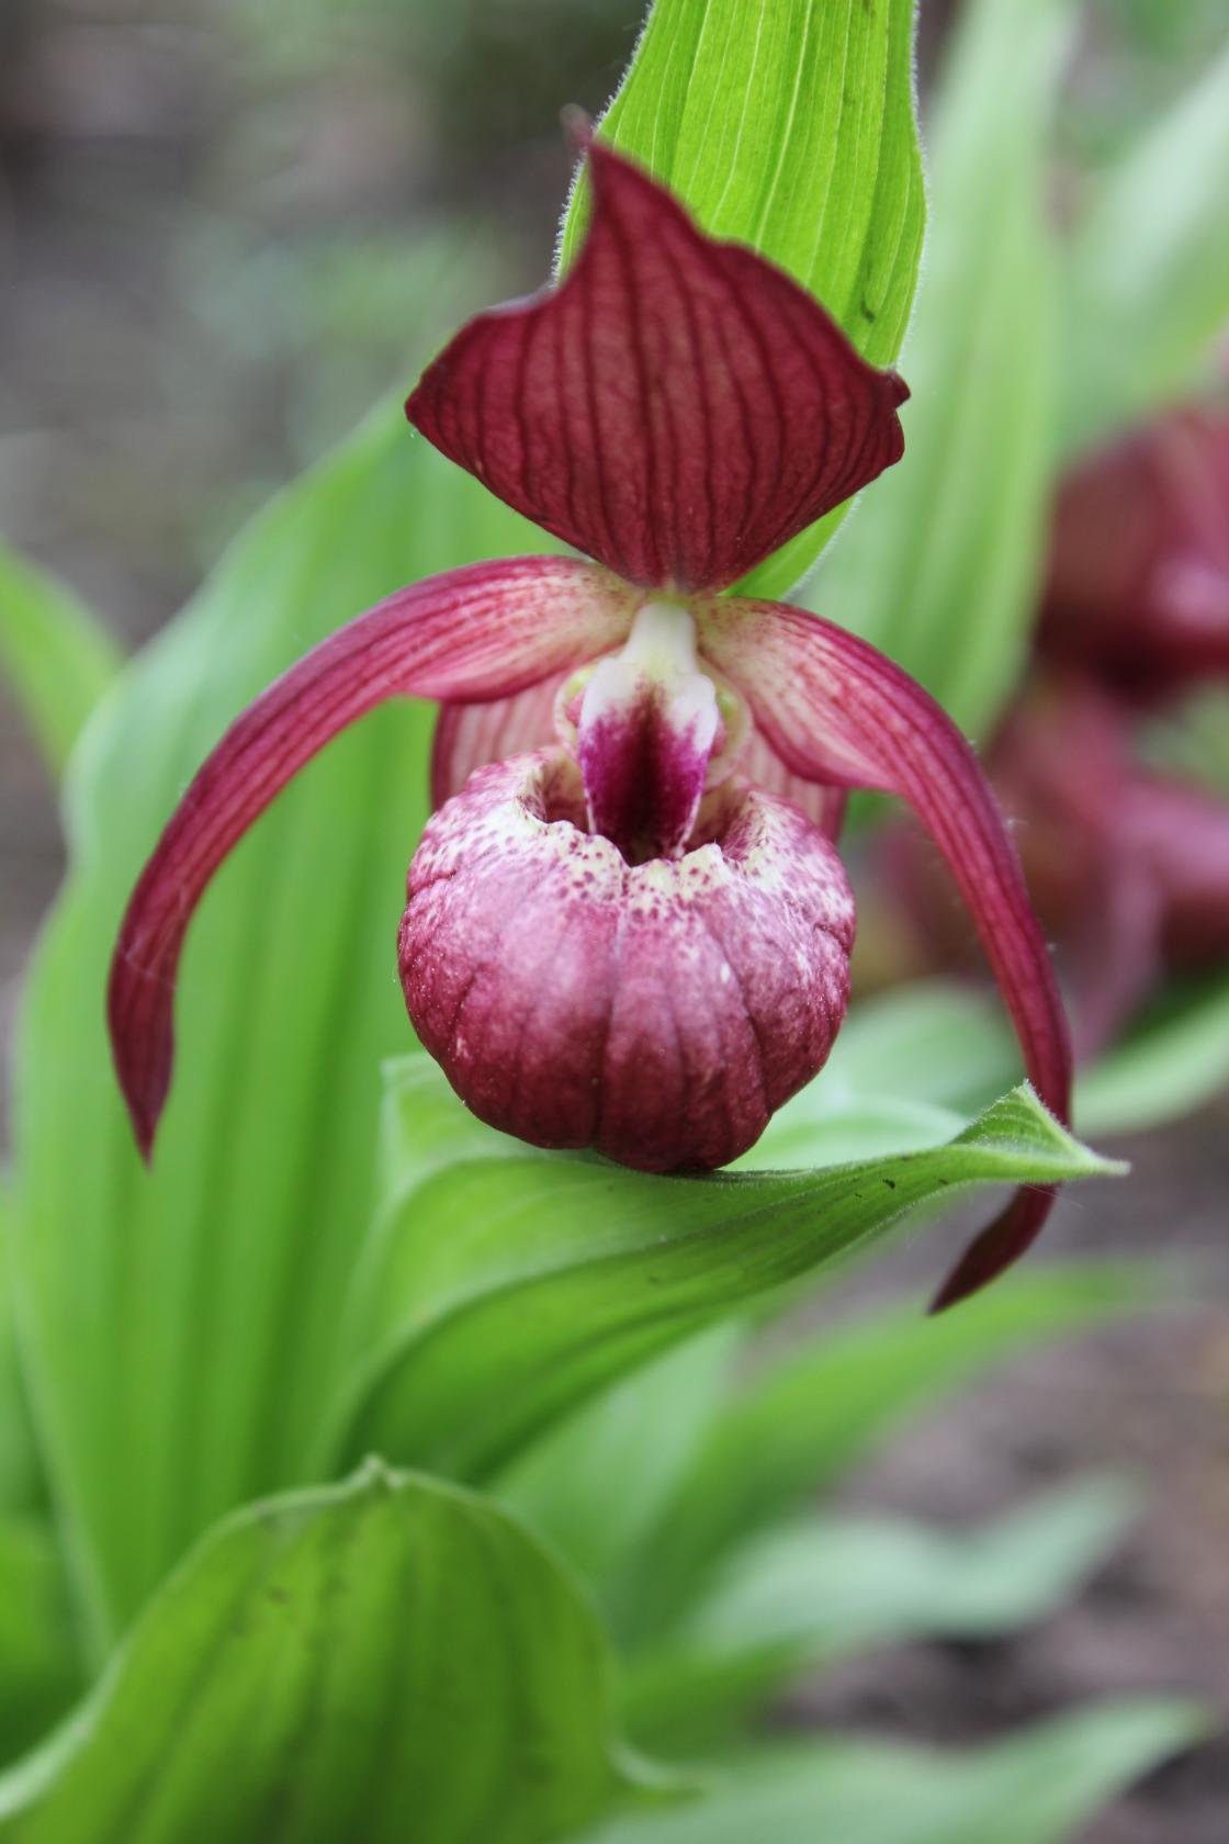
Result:
[[696,658],[691,610],[678,603],[647,601],[623,649],[595,668],[580,703],[580,734],[634,706],[645,692],[658,695],[671,728],[708,754],[719,723],[717,686]]

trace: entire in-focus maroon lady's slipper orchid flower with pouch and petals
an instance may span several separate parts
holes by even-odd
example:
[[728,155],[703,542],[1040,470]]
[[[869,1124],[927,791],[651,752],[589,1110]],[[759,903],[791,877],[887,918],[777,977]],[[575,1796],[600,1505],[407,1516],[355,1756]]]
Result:
[[[894,372],[748,249],[601,144],[571,273],[481,313],[409,420],[577,557],[475,564],[330,636],[227,732],[129,905],[111,1033],[151,1149],[188,920],[219,861],[345,725],[440,699],[409,869],[409,1016],[485,1121],[647,1171],[746,1151],[824,1064],[848,999],[844,791],[899,793],[973,911],[1028,1073],[1065,1117],[1047,948],[977,762],[872,647],[720,592],[903,452]],[[953,1046],[953,1055],[958,1047]],[[940,1294],[1034,1239],[1023,1191]]]

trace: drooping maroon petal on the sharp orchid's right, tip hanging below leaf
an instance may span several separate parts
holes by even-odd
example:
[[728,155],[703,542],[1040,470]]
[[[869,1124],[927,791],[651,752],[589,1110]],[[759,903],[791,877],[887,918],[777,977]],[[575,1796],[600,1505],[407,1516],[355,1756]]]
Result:
[[[901,795],[921,819],[977,922],[1032,1084],[1067,1121],[1071,1044],[1045,937],[1002,815],[956,727],[899,666],[818,616],[732,599],[696,618],[702,653],[739,686],[794,773]],[[1019,1191],[969,1247],[936,1309],[1008,1269],[1052,1200],[1052,1188]]]

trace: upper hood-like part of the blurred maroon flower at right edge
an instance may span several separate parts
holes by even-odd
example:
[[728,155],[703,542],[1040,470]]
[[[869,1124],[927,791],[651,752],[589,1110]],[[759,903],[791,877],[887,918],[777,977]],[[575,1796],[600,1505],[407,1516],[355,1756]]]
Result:
[[1229,671],[1229,411],[1163,417],[1067,478],[1039,651],[1142,701]]

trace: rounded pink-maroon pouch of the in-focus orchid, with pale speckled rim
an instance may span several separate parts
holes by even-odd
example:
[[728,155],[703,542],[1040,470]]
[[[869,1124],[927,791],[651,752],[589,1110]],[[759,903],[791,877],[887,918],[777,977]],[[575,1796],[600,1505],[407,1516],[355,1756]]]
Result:
[[400,935],[409,1016],[503,1132],[643,1171],[724,1165],[844,1016],[840,859],[744,784],[676,861],[632,867],[582,821],[562,751],[494,763],[433,815]]

